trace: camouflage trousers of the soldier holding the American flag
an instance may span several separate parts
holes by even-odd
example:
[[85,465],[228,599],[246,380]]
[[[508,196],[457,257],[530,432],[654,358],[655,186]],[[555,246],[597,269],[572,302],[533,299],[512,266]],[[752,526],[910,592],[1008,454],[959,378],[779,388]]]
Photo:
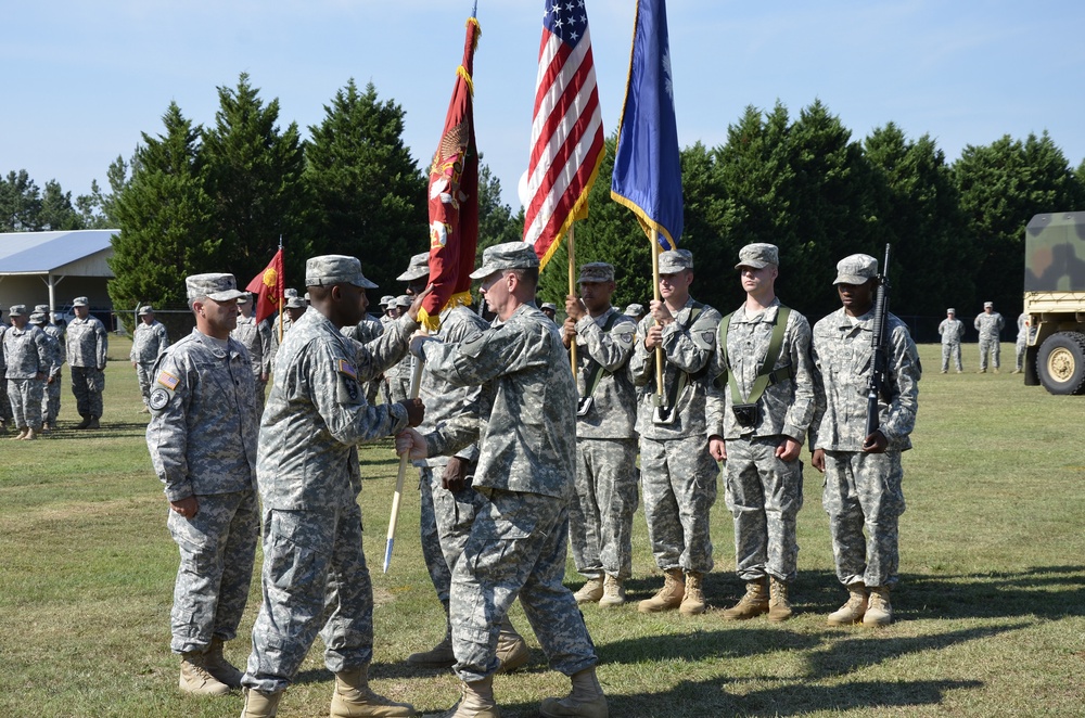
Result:
[[633,514],[637,511],[637,440],[577,439],[576,499],[569,508],[569,542],[576,570],[633,575]]

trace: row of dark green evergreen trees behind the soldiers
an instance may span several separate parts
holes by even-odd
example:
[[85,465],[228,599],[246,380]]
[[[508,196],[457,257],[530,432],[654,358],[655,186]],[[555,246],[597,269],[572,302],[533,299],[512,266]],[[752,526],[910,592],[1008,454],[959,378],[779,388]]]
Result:
[[[246,75],[218,88],[214,124],[194,124],[170,104],[157,134],[144,132],[129,159],[74,202],[55,181],[38,188],[25,171],[0,178],[0,230],[119,227],[111,296],[118,306],[183,303],[183,277],[230,271],[246,283],[286,247],[288,284],[299,286],[305,258],[358,256],[381,294],[429,246],[426,167],[403,142],[404,110],[372,85],[353,80],[324,106],[303,140],[279,124]],[[485,150],[485,138],[481,138]],[[614,138],[575,227],[577,264],[617,268],[616,304],[652,296],[648,239],[633,214],[610,200]],[[424,149],[423,149],[424,150]],[[694,296],[725,311],[741,300],[739,247],[780,247],[781,298],[812,318],[838,305],[835,262],[856,252],[881,258],[894,247],[893,307],[902,316],[961,317],[985,299],[1004,313],[1021,306],[1023,233],[1038,213],[1085,209],[1085,163],[1072,168],[1045,132],[969,145],[949,164],[929,136],[909,139],[892,123],[856,140],[820,102],[797,117],[777,104],[748,107],[716,148],[681,152],[686,230]],[[519,240],[523,210],[501,202],[501,184],[481,170],[481,247]],[[559,306],[567,291],[567,242],[542,273],[540,298]]]

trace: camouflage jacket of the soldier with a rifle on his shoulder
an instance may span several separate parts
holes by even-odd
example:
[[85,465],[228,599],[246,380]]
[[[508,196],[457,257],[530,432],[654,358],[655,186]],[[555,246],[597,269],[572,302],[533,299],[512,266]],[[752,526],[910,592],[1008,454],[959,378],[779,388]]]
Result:
[[[817,409],[810,423],[812,450],[863,450],[872,331],[873,311],[853,319],[842,308],[814,325]],[[879,398],[878,415],[889,449],[904,451],[911,448],[923,368],[907,325],[893,315],[889,316],[885,347],[889,401]]]

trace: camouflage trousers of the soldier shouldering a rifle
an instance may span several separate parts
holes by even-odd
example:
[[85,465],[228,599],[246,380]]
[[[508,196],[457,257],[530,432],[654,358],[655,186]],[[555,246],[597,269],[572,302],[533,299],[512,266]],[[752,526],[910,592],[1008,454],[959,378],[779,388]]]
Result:
[[821,503],[829,514],[837,578],[844,586],[896,584],[897,524],[905,509],[903,478],[899,451],[825,452]]

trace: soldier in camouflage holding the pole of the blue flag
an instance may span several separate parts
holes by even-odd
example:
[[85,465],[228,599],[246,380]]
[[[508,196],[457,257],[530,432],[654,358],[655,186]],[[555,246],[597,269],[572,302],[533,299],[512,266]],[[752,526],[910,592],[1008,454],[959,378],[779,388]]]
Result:
[[[709,453],[705,395],[716,349],[719,312],[694,302],[693,255],[672,249],[660,255],[660,294],[640,322],[629,372],[644,387],[637,414],[644,518],[663,588],[638,610],[679,608],[704,613],[703,577],[712,570],[709,515],[716,502],[719,466]],[[656,348],[663,349],[663,396],[656,387]]]

